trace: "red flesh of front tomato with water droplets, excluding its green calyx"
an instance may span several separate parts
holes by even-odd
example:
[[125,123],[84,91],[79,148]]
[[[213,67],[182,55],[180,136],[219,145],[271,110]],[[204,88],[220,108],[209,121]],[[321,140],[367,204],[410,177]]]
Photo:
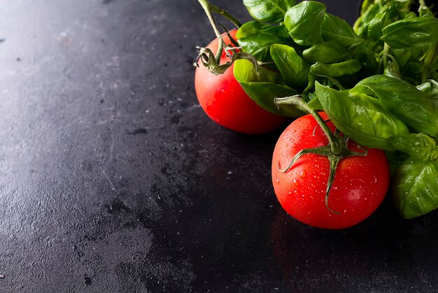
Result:
[[[320,113],[327,119],[324,112]],[[334,125],[328,122],[334,131]],[[325,229],[342,229],[369,217],[386,196],[390,168],[383,151],[368,149],[367,156],[341,159],[325,206],[329,161],[325,156],[305,154],[288,172],[292,158],[302,149],[323,147],[328,139],[309,114],[293,121],[276,143],[272,158],[272,182],[278,201],[295,219]],[[348,149],[360,151],[353,141]],[[338,212],[334,213],[334,212]]]

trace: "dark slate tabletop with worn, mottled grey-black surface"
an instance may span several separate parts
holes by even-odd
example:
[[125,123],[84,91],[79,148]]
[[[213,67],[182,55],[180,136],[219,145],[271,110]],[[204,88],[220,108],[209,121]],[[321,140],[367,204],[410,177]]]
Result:
[[197,104],[197,1],[1,4],[0,292],[435,291],[437,212],[386,200],[344,231],[283,212],[281,130],[231,132]]

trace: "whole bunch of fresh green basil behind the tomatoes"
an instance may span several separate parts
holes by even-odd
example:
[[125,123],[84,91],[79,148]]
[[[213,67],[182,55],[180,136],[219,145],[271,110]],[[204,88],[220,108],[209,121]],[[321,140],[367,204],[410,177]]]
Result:
[[239,28],[244,52],[234,76],[261,107],[302,95],[341,132],[383,149],[392,163],[392,194],[405,218],[438,207],[438,19],[419,1],[365,0],[352,27],[318,1],[243,0],[255,21]]

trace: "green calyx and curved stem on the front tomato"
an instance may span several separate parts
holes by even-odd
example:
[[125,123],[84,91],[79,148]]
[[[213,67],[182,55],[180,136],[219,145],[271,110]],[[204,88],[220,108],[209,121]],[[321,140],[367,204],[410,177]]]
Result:
[[299,158],[304,156],[305,154],[317,154],[320,156],[325,156],[329,160],[330,163],[330,170],[329,170],[329,177],[327,179],[327,189],[325,190],[325,207],[327,207],[327,210],[330,210],[330,212],[333,212],[334,214],[341,214],[340,212],[337,212],[335,210],[332,210],[328,205],[328,199],[330,195],[330,190],[332,189],[332,184],[334,182],[334,177],[336,175],[336,170],[339,162],[343,158],[351,157],[351,156],[367,156],[368,150],[363,149],[358,145],[358,149],[361,151],[351,151],[348,149],[348,137],[345,135],[342,135],[341,132],[336,129],[334,132],[330,130],[327,123],[319,116],[319,114],[311,109],[306,102],[302,99],[301,95],[294,95],[290,97],[281,97],[281,98],[275,98],[274,99],[275,104],[279,107],[281,105],[295,105],[302,110],[308,112],[315,118],[316,122],[318,122],[318,125],[320,128],[323,129],[325,135],[327,136],[327,139],[329,140],[329,144],[327,144],[324,147],[316,147],[311,149],[302,149],[299,151],[294,158],[292,158],[292,161],[290,161],[288,167],[281,169],[279,162],[278,162],[278,170],[280,172],[289,172],[293,165],[297,162]]

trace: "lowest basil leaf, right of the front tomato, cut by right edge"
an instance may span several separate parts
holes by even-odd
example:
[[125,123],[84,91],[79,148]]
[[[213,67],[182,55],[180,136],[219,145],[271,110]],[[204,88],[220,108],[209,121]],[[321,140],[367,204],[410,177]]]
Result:
[[392,177],[391,193],[402,217],[411,219],[438,207],[438,163],[410,157]]

